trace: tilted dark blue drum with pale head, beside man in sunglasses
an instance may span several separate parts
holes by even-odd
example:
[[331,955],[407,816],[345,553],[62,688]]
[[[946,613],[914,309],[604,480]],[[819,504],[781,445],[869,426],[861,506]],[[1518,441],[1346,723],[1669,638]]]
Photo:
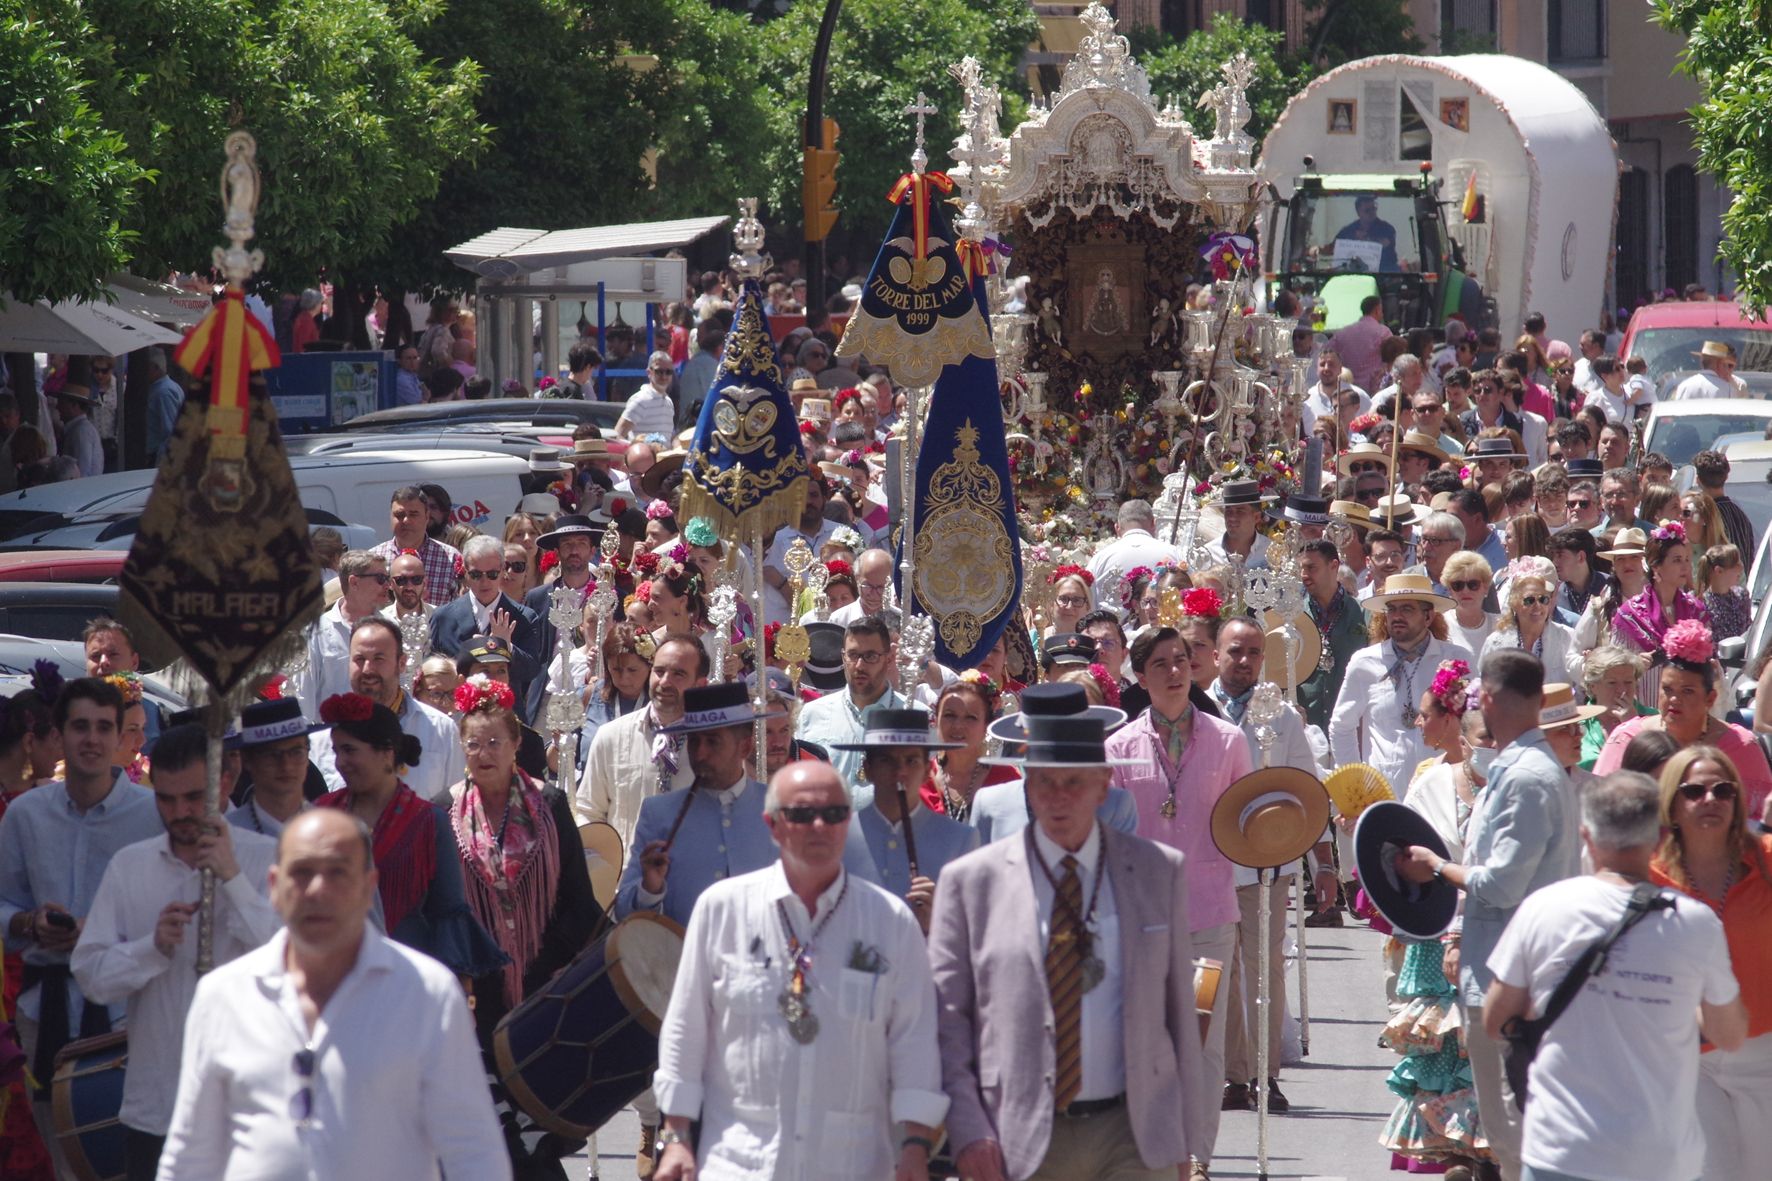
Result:
[[539,1126],[583,1138],[652,1085],[682,927],[633,913],[493,1032],[498,1076]]

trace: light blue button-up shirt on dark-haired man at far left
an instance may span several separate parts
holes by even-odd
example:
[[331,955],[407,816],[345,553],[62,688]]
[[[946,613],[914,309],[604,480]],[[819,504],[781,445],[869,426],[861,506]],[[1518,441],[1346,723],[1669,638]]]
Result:
[[[124,846],[163,835],[154,793],[117,771],[110,793],[82,812],[67,796],[62,780],[44,784],[19,796],[0,817],[0,931],[9,931],[12,917],[55,903],[74,919],[85,919],[99,892],[105,867]],[[66,965],[67,952],[50,952],[28,938],[7,938],[7,950],[25,954],[30,965]],[[19,995],[18,1011],[37,1020],[39,989]],[[67,981],[69,1034],[80,1036],[85,998],[80,986]],[[126,1007],[110,1007],[112,1025]]]

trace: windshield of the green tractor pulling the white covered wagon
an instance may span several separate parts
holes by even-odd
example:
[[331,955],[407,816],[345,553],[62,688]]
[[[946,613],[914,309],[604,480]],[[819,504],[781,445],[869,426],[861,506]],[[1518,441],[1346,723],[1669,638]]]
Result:
[[[1292,197],[1283,271],[1419,271],[1423,243],[1416,238],[1416,200],[1396,192],[1324,193],[1299,190]],[[1425,270],[1439,268],[1428,241]]]

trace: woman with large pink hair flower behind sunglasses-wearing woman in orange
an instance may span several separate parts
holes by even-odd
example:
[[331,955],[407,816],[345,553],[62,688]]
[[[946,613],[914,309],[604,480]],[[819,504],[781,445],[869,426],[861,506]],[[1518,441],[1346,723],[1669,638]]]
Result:
[[1717,704],[1717,684],[1722,679],[1715,661],[1715,640],[1710,626],[1683,619],[1667,628],[1655,651],[1660,667],[1660,713],[1621,722],[1600,747],[1593,764],[1595,775],[1611,775],[1623,761],[1625,747],[1644,731],[1666,731],[1680,747],[1708,743],[1729,757],[1742,777],[1747,794],[1747,816],[1760,819],[1767,796],[1772,794],[1772,766],[1754,741],[1753,731],[1724,722],[1712,713]]

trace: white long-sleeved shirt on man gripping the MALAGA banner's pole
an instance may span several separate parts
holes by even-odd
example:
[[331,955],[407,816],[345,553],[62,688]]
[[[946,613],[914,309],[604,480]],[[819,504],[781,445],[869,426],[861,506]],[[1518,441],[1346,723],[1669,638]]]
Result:
[[[282,920],[271,910],[266,880],[276,860],[276,841],[236,830],[239,872],[216,883],[214,958],[227,963],[276,935]],[[202,874],[172,853],[167,837],[138,841],[117,851],[105,869],[99,892],[80,931],[71,966],[80,991],[101,1004],[129,1004],[129,1069],[122,1080],[124,1126],[167,1135],[172,1122],[184,1014],[197,995],[197,924],[161,956],[154,929],[167,903],[197,903]]]

